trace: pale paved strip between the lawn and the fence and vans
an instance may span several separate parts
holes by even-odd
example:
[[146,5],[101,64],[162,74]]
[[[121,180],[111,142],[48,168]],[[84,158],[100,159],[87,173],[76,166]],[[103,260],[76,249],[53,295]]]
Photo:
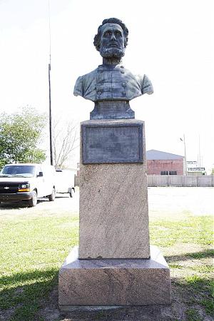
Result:
[[[35,208],[27,208],[19,203],[3,203],[0,206],[0,214],[16,214],[18,208],[19,214],[21,214],[21,208],[24,211],[31,210],[32,213],[41,210],[49,213],[57,213],[61,210],[78,212],[78,196],[78,190],[76,190],[73,198],[68,197],[68,194],[57,194],[54,202],[49,202],[47,198],[43,198],[39,200]],[[193,215],[214,215],[214,188],[148,188],[148,206],[151,215],[155,215],[154,213],[171,215],[183,211],[190,212]]]

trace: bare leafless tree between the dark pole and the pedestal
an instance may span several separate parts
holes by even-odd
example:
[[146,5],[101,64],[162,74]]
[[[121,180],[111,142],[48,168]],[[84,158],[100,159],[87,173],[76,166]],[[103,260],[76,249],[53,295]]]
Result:
[[53,148],[56,168],[63,168],[73,150],[79,146],[78,126],[74,121],[53,121]]

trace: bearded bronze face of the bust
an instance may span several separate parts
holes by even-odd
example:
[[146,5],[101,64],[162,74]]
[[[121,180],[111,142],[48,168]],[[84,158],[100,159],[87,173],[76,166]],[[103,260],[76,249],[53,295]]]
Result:
[[100,54],[106,58],[121,58],[125,55],[125,38],[119,24],[104,24]]

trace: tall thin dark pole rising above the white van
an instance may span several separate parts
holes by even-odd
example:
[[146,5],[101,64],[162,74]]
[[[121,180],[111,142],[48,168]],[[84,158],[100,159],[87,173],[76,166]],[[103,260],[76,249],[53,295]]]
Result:
[[52,113],[51,113],[51,18],[50,18],[50,1],[49,1],[49,136],[50,136],[50,160],[54,165],[53,159],[53,142],[52,142]]

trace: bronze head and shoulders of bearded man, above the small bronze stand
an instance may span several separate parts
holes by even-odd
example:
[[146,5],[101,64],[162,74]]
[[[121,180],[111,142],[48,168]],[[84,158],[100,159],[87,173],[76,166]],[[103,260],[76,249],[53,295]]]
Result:
[[[153,86],[146,75],[133,75],[124,68],[122,57],[128,43],[128,29],[119,19],[103,20],[93,44],[103,57],[103,64],[91,73],[78,77],[74,95],[91,101],[122,101],[153,93]],[[127,104],[129,107],[129,105]],[[128,117],[130,118],[130,117]],[[131,117],[133,118],[133,117]]]

